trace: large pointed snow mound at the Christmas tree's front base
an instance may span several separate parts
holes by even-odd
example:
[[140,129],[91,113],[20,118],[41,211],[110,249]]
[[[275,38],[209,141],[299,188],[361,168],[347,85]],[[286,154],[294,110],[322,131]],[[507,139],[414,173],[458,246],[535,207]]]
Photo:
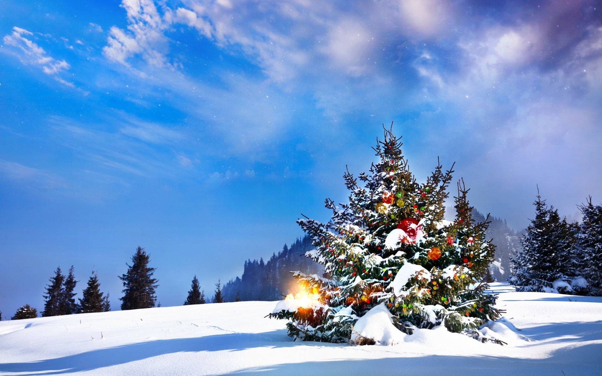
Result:
[[351,341],[357,343],[361,337],[365,337],[374,339],[378,345],[396,345],[404,342],[408,334],[393,325],[392,317],[385,303],[380,303],[355,323]]

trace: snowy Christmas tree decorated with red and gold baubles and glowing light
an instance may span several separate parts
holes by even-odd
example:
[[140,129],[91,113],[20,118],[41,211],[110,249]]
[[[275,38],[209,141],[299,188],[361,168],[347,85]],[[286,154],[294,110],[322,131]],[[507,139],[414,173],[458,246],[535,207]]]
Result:
[[324,265],[325,273],[294,273],[299,294],[271,315],[290,319],[288,334],[295,339],[347,342],[358,318],[376,306],[386,307],[406,334],[437,325],[476,330],[500,315],[483,282],[494,256],[485,239],[488,221],[474,223],[463,180],[455,220],[444,220],[453,165],[444,171],[438,164],[418,183],[401,146],[385,129],[374,148],[380,160],[369,173],[358,179],[344,174],[349,203],[327,199],[333,212],[328,223],[298,221],[315,246],[306,256]]

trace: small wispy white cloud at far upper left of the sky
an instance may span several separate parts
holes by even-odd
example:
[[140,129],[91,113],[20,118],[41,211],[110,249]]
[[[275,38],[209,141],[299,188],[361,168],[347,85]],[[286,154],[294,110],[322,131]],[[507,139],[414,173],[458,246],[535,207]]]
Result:
[[6,45],[17,49],[16,55],[23,64],[41,66],[42,72],[52,76],[63,85],[74,87],[71,82],[65,81],[58,75],[58,73],[70,68],[69,63],[64,60],[55,60],[55,58],[46,54],[42,47],[27,38],[31,35],[33,35],[33,32],[14,26],[13,32],[5,35],[2,40]]

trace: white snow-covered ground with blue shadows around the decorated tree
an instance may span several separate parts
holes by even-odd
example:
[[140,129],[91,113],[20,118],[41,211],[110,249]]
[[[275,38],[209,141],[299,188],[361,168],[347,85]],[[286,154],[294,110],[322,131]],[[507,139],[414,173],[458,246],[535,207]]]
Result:
[[521,329],[503,347],[440,330],[395,346],[293,342],[264,318],[276,302],[243,301],[1,321],[0,375],[602,375],[602,298],[494,290]]

